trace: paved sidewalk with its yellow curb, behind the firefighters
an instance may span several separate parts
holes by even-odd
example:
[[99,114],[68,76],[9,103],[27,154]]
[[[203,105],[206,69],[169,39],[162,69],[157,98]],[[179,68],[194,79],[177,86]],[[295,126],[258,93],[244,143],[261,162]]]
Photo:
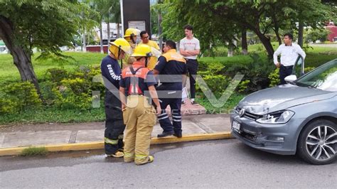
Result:
[[[186,104],[188,108],[188,104]],[[197,111],[198,112],[198,111]],[[200,111],[199,111],[200,112]],[[193,114],[195,114],[194,112]],[[183,137],[156,138],[162,129],[157,123],[151,144],[230,138],[230,115],[205,114],[183,116]],[[28,146],[46,146],[48,151],[76,151],[104,148],[104,122],[82,124],[32,124],[0,129],[0,156],[17,155]]]

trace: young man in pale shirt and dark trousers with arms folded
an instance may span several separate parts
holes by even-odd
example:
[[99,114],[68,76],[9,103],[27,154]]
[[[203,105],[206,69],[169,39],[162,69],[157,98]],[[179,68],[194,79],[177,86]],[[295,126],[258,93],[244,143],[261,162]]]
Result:
[[[197,38],[193,37],[193,26],[186,25],[183,27],[186,38],[180,41],[179,52],[186,60],[188,75],[190,77],[191,103],[196,104],[196,74],[198,72],[197,56],[200,53],[200,43]],[[193,77],[194,76],[194,77]]]

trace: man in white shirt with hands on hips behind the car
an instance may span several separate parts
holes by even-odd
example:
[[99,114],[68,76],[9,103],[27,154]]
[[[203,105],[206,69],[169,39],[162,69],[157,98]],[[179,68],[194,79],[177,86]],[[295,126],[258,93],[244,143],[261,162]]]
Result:
[[[291,75],[295,61],[299,55],[306,58],[306,53],[296,43],[292,43],[293,36],[291,33],[284,34],[284,44],[279,45],[279,48],[274,53],[274,64],[279,68],[279,85],[284,85],[287,82],[284,78]],[[277,60],[277,56],[281,54],[281,63]]]

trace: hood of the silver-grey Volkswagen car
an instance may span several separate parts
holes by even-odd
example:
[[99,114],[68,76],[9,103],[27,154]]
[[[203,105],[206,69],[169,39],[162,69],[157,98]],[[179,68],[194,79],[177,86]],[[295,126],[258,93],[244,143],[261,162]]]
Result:
[[238,107],[245,108],[247,112],[252,114],[262,115],[294,107],[299,104],[329,99],[336,95],[337,92],[287,84],[247,95],[247,97],[240,101]]

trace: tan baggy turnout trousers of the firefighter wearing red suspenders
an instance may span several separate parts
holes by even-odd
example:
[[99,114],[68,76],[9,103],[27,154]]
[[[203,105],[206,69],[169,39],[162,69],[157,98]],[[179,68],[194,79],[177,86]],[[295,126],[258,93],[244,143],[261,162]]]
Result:
[[124,161],[143,164],[149,161],[151,133],[156,124],[156,114],[147,97],[131,95],[127,97],[127,109],[123,111],[126,136]]

